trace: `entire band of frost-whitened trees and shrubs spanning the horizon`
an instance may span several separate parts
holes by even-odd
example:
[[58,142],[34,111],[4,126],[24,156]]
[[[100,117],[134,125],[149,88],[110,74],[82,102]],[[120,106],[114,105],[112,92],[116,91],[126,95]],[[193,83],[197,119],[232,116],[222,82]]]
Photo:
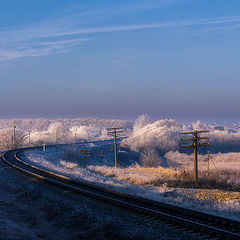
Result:
[[[141,115],[135,122],[124,120],[103,120],[96,118],[79,119],[17,119],[0,120],[0,148],[9,149],[13,146],[13,125],[16,125],[15,139],[17,147],[28,145],[29,132],[31,145],[51,143],[72,143],[109,139],[106,128],[124,127],[122,146],[135,152],[155,150],[163,157],[169,151],[183,151],[180,147],[180,133],[193,129],[209,129],[209,148],[202,148],[206,153],[210,150],[218,152],[238,152],[240,150],[239,126],[225,125],[215,128],[216,124],[205,124],[201,121],[188,125],[174,119],[150,121],[146,115]],[[214,129],[215,128],[215,129]]]

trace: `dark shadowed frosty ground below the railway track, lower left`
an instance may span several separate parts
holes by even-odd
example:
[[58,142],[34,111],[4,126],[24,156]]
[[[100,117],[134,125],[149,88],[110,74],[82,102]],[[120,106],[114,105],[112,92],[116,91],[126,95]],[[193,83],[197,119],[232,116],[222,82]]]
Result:
[[190,233],[26,176],[0,161],[1,240],[187,240]]

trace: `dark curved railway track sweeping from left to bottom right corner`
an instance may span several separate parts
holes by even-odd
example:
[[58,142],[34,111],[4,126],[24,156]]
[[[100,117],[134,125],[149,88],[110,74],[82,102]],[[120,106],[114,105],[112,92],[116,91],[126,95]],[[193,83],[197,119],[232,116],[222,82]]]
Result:
[[166,222],[184,230],[190,230],[200,236],[202,234],[202,239],[208,237],[214,239],[240,239],[239,221],[132,196],[87,182],[78,182],[69,177],[43,170],[24,162],[20,158],[20,153],[23,150],[26,149],[5,152],[2,155],[2,159],[12,167],[34,177],[140,214],[141,216]]

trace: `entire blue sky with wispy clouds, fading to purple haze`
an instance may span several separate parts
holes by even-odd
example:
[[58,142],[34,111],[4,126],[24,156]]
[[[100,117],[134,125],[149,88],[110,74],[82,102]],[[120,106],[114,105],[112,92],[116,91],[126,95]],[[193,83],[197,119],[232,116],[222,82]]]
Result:
[[238,0],[0,4],[0,118],[239,121]]

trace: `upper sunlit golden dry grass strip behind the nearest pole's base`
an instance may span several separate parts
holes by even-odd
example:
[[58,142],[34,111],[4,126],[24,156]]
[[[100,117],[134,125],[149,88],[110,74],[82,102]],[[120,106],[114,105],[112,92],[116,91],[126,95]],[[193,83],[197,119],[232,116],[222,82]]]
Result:
[[152,185],[179,188],[221,189],[240,191],[240,173],[233,170],[200,171],[198,184],[195,184],[193,172],[184,168],[144,168],[140,166],[129,168],[90,167],[95,172],[127,181],[137,185]]

